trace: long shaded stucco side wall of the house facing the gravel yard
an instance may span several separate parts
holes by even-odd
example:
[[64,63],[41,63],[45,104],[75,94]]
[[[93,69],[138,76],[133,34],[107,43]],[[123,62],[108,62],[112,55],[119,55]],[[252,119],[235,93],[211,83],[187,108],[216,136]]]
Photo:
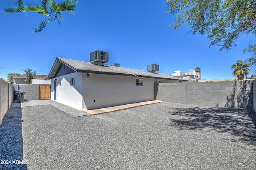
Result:
[[[87,78],[86,73],[83,73],[83,99],[87,109],[154,100],[154,82],[159,80],[136,76],[89,74],[90,78]],[[137,78],[143,79],[143,86],[136,86]]]

